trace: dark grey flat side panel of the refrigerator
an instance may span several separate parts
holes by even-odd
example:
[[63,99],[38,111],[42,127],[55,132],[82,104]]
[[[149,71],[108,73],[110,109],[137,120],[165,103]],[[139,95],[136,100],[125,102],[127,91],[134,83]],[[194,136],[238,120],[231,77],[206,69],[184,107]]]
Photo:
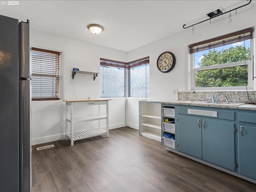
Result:
[[19,191],[18,20],[0,15],[0,191]]

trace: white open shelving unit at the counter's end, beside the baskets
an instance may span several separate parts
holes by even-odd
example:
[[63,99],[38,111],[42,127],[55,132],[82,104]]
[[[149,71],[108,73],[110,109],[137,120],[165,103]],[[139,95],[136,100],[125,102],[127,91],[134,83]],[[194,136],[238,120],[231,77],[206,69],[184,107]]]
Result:
[[139,134],[161,142],[161,103],[139,101]]

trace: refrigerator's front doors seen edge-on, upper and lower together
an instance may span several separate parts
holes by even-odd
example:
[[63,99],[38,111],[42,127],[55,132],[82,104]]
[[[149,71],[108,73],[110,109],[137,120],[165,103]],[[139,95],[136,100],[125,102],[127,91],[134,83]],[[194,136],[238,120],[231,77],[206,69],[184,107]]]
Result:
[[29,24],[20,28],[20,191],[31,190]]

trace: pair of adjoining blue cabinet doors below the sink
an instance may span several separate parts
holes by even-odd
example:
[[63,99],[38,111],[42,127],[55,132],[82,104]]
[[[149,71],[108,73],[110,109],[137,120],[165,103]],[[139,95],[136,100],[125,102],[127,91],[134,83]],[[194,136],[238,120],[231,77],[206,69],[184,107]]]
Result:
[[178,151],[235,171],[234,123],[178,115]]

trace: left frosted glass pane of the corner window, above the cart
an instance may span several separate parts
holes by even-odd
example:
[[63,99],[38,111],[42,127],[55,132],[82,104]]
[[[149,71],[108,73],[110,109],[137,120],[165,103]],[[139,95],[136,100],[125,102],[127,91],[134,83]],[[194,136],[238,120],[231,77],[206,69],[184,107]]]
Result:
[[100,66],[100,97],[125,96],[125,68]]

